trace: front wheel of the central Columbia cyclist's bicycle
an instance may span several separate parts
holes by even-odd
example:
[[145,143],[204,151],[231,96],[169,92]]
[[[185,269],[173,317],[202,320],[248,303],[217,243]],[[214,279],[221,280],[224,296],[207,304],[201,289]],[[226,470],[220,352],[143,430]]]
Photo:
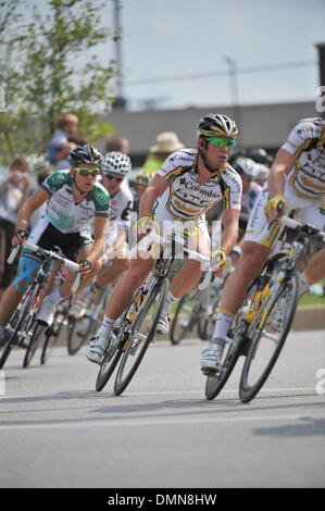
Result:
[[167,278],[162,282],[161,286],[155,285],[129,327],[130,334],[122,346],[123,356],[114,384],[116,396],[120,396],[128,386],[154,337],[168,289],[170,281]]

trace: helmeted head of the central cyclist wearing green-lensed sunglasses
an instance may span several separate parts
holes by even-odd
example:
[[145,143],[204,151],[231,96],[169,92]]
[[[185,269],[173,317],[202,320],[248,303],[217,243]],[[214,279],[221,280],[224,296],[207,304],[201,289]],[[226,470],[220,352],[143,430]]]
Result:
[[[201,155],[204,166],[209,172],[215,173],[221,166],[224,166],[236,146],[238,128],[235,121],[224,114],[209,114],[199,122],[197,126],[198,152]],[[209,147],[213,146],[213,162]],[[217,148],[218,150],[216,150]]]

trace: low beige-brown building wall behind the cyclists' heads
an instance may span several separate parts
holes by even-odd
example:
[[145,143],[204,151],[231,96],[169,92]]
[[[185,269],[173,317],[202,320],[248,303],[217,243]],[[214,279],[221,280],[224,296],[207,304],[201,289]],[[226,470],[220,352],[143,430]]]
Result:
[[198,121],[204,114],[215,112],[225,113],[238,122],[241,147],[265,149],[277,149],[300,119],[318,116],[315,103],[301,102],[141,112],[115,110],[108,114],[107,121],[129,139],[132,154],[145,155],[161,132],[176,132],[187,147],[192,147]]

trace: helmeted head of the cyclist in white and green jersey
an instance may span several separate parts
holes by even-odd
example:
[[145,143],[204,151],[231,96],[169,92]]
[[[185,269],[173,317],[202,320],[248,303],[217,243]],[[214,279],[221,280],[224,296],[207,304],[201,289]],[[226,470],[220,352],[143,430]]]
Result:
[[92,146],[78,146],[68,155],[71,178],[82,195],[88,194],[100,174],[102,155]]

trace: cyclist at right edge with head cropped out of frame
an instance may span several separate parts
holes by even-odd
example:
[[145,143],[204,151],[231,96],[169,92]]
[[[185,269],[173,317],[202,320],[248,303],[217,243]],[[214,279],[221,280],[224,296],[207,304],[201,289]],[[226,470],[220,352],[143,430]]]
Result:
[[[279,212],[279,208],[282,211]],[[325,121],[300,121],[278,150],[268,183],[251,212],[242,256],[223,290],[221,308],[202,370],[220,370],[228,328],[246,297],[249,284],[262,272],[273,239],[261,239],[267,223],[295,212],[302,223],[325,229]],[[318,251],[300,274],[300,292],[325,277],[325,249]]]

